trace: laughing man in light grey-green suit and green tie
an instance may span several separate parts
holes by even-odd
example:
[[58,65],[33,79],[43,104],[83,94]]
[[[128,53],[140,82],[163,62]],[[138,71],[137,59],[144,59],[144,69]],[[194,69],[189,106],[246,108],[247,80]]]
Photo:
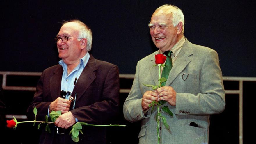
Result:
[[[140,144],[157,143],[157,109],[151,111],[149,104],[153,100],[165,100],[163,106],[167,106],[174,115],[162,113],[170,130],[163,126],[161,120],[160,143],[208,143],[209,115],[225,109],[225,91],[217,52],[192,44],[184,37],[184,15],[176,6],[157,8],[148,26],[152,41],[159,50],[138,61],[131,92],[124,103],[125,119],[141,121]],[[167,55],[166,51],[169,51]],[[171,58],[172,68],[165,86],[152,91],[143,83],[158,85],[159,69],[152,66],[155,65],[155,55],[159,53],[168,56],[166,61]]]

